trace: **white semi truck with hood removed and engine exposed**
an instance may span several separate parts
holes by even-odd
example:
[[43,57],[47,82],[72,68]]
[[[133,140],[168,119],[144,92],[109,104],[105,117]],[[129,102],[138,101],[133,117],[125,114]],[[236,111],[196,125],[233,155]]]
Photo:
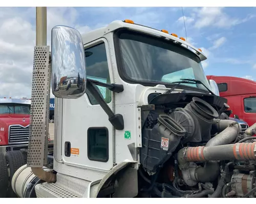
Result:
[[[18,197],[255,195],[256,125],[241,135],[240,124],[220,119],[227,101],[211,91],[200,49],[116,20],[83,35],[54,27],[49,59],[46,8],[37,15],[28,164],[12,178]],[[51,76],[53,169],[44,167]]]

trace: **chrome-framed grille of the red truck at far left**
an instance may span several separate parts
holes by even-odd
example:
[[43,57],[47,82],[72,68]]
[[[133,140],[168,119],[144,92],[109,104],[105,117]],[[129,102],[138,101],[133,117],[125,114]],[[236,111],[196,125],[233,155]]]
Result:
[[9,144],[24,144],[29,142],[29,125],[24,127],[22,125],[9,126]]

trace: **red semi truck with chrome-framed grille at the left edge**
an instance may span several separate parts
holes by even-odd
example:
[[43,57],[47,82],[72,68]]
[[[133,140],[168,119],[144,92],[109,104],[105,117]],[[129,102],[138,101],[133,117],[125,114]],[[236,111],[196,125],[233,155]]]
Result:
[[[30,107],[31,99],[0,98],[0,153],[4,153],[0,155],[0,197],[16,197],[8,180],[11,181],[14,172],[27,163]],[[48,165],[51,168],[53,140],[50,140],[50,134],[53,137],[53,125],[49,124],[48,136]],[[3,165],[7,165],[9,173]]]

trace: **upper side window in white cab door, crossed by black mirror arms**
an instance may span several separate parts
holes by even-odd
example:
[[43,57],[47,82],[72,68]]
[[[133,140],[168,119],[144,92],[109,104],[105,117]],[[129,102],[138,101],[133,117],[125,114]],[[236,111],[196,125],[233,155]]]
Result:
[[[103,83],[110,84],[110,74],[108,59],[106,58],[106,48],[105,43],[94,45],[92,47],[84,49],[86,53],[86,66],[87,66],[87,78],[92,80],[97,80]],[[108,104],[112,99],[112,92],[102,86],[96,86],[96,89],[101,93],[101,96]],[[90,103],[92,105],[98,105],[96,99],[90,93],[86,91]]]

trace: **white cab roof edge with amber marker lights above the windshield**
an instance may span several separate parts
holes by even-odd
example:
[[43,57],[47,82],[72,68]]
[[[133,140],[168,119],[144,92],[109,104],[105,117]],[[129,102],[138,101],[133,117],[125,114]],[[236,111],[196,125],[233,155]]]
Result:
[[[124,21],[126,21],[126,20],[124,20]],[[184,48],[189,49],[192,52],[194,52],[200,58],[201,61],[204,61],[207,59],[207,57],[202,53],[202,51],[200,49],[194,47],[193,45],[187,43],[186,41],[180,39],[179,37],[175,37],[174,35],[166,33],[165,30],[159,31],[157,29],[153,29],[150,27],[146,27],[144,25],[133,23],[133,21],[131,21],[131,20],[127,20],[129,22],[124,22],[124,21],[115,20],[115,21],[111,22],[110,24],[106,25],[106,27],[102,27],[102,28],[90,31],[88,33],[82,34],[83,44],[87,44],[89,42],[94,41],[95,39],[99,39],[108,33],[114,32],[117,29],[126,28],[129,30],[139,31],[139,32],[149,34],[149,35],[162,36],[168,40],[176,41],[181,46],[184,46]]]

